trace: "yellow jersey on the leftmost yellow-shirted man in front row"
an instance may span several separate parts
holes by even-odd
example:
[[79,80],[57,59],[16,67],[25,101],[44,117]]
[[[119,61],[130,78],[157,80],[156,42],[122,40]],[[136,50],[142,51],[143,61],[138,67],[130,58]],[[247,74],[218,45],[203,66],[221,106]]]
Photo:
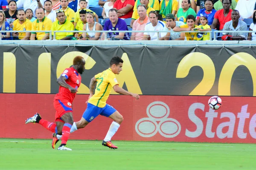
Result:
[[[15,20],[12,23],[13,31],[31,31],[32,22],[28,19],[25,20],[23,24],[19,23],[19,20]],[[25,32],[19,32],[19,40],[23,39],[26,36]]]

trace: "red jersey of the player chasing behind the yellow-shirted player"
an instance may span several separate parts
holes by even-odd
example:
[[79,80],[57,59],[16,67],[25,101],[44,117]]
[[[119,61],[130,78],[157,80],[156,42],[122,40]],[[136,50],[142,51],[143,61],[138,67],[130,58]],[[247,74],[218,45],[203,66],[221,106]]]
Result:
[[[73,68],[66,68],[61,76],[66,77],[66,82],[68,85],[70,85],[73,88],[78,89],[81,84],[81,76],[80,74]],[[68,100],[70,103],[73,102],[73,99],[75,98],[76,93],[71,93],[68,88],[64,88],[60,86],[59,92],[55,95],[55,100],[61,100],[65,99]]]

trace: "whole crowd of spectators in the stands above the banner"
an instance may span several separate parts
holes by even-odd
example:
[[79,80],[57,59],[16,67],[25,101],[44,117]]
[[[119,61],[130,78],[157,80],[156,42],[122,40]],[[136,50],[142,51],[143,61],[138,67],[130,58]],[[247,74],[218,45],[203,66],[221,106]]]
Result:
[[[256,0],[0,0],[1,40],[210,40],[256,31]],[[64,32],[64,31],[81,32]],[[143,32],[116,32],[116,31]],[[105,33],[86,31],[113,31]],[[146,32],[172,31],[172,32]],[[180,32],[196,31],[196,32]],[[256,40],[255,33],[219,34]]]

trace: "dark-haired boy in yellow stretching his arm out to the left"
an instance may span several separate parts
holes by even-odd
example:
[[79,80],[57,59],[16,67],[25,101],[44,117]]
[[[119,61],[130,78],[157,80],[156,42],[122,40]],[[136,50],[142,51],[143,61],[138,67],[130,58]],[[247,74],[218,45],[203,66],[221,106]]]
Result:
[[[194,15],[188,15],[186,17],[187,23],[185,25],[182,26],[175,26],[175,28],[173,28],[173,31],[195,31],[196,25],[195,25],[195,17]],[[182,32],[180,34],[180,38],[181,40],[186,40],[190,41],[190,40],[194,40],[194,37],[197,33],[196,32]]]

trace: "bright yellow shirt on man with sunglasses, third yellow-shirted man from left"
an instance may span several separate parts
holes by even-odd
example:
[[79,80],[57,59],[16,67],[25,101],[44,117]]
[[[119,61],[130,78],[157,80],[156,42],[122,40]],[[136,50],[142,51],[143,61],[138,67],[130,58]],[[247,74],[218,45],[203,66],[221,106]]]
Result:
[[[58,20],[52,23],[52,31],[74,31],[74,25],[69,20],[65,20],[65,22],[60,25]],[[56,32],[56,40],[60,40],[64,37],[72,37],[73,32]]]

